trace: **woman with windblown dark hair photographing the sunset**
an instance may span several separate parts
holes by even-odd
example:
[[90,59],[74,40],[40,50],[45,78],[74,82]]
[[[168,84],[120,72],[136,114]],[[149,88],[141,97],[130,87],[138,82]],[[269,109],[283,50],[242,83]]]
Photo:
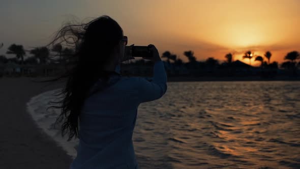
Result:
[[[83,29],[79,29],[79,28]],[[123,77],[127,37],[118,23],[101,16],[87,24],[68,25],[57,39],[75,39],[78,63],[62,91],[62,135],[79,138],[77,156],[70,168],[138,168],[132,134],[140,103],[159,99],[166,90],[166,73],[159,52],[151,47],[153,81]],[[62,38],[63,37],[63,38]],[[75,38],[74,38],[75,37]],[[52,44],[54,44],[54,41]],[[67,41],[68,42],[68,41]],[[53,102],[52,102],[53,103]]]

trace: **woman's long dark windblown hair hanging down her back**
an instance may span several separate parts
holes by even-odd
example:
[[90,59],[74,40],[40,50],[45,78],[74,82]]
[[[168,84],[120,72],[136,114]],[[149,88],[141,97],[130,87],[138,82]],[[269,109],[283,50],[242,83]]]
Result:
[[101,68],[111,59],[109,56],[122,38],[121,26],[104,15],[88,23],[63,26],[48,44],[53,46],[57,42],[65,43],[75,48],[75,52],[67,58],[77,59],[74,67],[59,77],[44,80],[58,81],[67,78],[65,88],[55,95],[60,96],[61,100],[49,102],[59,105],[48,108],[61,108],[61,114],[56,118],[54,126],[57,122],[62,123],[62,136],[68,134],[68,141],[74,136],[79,137],[78,119],[84,100],[88,97],[89,89],[99,78],[107,82],[110,73]]

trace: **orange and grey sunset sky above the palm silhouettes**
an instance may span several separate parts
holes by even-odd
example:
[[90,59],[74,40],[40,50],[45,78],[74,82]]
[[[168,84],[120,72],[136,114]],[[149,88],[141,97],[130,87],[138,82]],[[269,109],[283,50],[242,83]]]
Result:
[[287,52],[300,51],[298,0],[1,0],[0,54],[12,43],[25,49],[47,44],[64,21],[104,14],[123,27],[129,44],[151,43],[184,61],[185,50],[193,50],[198,61],[222,61],[233,52],[234,60],[246,63],[247,50],[259,55],[270,50],[271,62],[280,63]]

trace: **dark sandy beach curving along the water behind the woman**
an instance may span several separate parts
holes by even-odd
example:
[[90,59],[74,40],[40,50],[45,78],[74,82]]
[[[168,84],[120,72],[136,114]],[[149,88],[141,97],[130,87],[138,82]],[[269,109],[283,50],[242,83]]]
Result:
[[26,102],[63,83],[38,83],[37,78],[0,78],[0,168],[69,168],[72,158],[38,128]]

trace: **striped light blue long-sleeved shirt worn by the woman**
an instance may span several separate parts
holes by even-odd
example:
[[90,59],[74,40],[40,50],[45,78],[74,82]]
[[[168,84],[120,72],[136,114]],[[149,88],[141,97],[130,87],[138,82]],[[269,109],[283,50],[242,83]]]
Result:
[[[79,121],[79,146],[70,168],[138,168],[132,134],[140,103],[159,99],[167,90],[162,61],[154,64],[153,80],[112,75],[112,85],[87,98]],[[100,85],[96,82],[93,91]]]

